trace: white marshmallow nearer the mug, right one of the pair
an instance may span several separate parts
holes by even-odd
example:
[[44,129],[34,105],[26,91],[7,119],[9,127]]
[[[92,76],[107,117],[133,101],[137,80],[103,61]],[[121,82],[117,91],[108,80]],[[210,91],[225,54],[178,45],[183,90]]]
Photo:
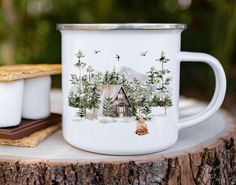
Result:
[[51,77],[25,79],[22,117],[42,119],[50,114]]

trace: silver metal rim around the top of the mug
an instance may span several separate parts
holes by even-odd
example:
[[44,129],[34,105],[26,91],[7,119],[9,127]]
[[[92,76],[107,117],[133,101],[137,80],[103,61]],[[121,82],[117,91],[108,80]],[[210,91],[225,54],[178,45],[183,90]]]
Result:
[[57,30],[185,30],[186,24],[122,23],[122,24],[57,24]]

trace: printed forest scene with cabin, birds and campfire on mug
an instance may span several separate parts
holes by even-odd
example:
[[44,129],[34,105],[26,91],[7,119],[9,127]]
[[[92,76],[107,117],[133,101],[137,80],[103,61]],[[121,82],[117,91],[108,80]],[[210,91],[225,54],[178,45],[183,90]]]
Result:
[[[101,51],[95,50],[94,54]],[[140,52],[141,57],[145,57],[148,51]],[[169,85],[171,82],[171,71],[165,68],[169,62],[162,51],[155,62],[159,62],[161,67],[152,66],[145,74],[128,68],[128,73],[116,71],[106,71],[105,74],[96,71],[92,66],[84,62],[86,56],[82,50],[76,53],[77,61],[74,67],[78,71],[71,74],[70,83],[72,85],[68,95],[70,107],[77,108],[76,117],[79,120],[100,120],[102,123],[114,122],[116,119],[137,120],[135,133],[137,135],[148,134],[147,123],[152,119],[150,114],[156,107],[163,108],[163,114],[167,114],[167,109],[172,106]],[[114,55],[117,62],[121,56]],[[85,71],[86,74],[82,75]],[[130,78],[130,75],[133,78]]]

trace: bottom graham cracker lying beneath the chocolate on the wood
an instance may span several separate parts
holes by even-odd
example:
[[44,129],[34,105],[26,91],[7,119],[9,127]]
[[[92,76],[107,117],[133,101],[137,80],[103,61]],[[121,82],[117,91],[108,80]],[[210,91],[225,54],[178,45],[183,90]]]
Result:
[[43,130],[37,131],[30,136],[21,139],[0,139],[0,145],[35,147],[60,128],[61,124],[59,123]]

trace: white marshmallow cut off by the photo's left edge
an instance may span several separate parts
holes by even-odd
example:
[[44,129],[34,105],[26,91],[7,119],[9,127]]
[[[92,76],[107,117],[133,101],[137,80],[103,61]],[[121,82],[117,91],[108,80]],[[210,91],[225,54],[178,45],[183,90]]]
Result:
[[23,80],[0,83],[0,128],[20,123],[23,90]]

